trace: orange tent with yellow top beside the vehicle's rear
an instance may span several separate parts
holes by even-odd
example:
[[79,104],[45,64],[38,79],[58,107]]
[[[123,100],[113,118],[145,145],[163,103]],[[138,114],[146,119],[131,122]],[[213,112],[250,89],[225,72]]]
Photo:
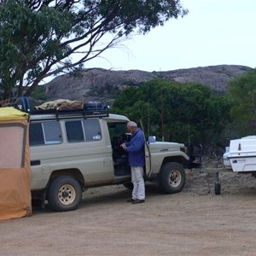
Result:
[[0,219],[32,215],[28,114],[0,108]]

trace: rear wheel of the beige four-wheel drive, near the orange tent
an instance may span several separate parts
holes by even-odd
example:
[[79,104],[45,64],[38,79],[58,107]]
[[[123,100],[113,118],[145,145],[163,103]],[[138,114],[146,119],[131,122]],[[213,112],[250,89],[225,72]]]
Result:
[[56,212],[72,211],[82,200],[81,185],[73,177],[56,177],[49,184],[47,200],[49,207]]

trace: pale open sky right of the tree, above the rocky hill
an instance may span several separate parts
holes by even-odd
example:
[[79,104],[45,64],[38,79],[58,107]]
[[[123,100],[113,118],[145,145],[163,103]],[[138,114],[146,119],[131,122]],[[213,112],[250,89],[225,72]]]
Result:
[[181,0],[189,14],[125,41],[85,67],[169,71],[256,67],[256,0]]

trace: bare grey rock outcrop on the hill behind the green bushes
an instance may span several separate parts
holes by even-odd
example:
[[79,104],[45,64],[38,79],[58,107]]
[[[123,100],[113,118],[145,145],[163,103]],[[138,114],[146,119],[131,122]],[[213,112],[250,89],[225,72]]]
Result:
[[49,99],[67,98],[82,102],[105,100],[112,102],[119,90],[129,85],[137,85],[151,79],[163,78],[180,83],[196,82],[205,84],[213,90],[228,90],[228,82],[248,71],[251,67],[219,65],[195,67],[165,72],[146,72],[141,70],[113,71],[102,68],[84,69],[78,76],[62,75],[45,84]]

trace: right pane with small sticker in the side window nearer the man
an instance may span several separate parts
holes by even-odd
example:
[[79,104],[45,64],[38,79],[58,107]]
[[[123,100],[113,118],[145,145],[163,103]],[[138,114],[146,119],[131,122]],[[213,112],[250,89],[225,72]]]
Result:
[[98,119],[84,119],[83,125],[86,141],[98,141],[102,139],[102,132]]

